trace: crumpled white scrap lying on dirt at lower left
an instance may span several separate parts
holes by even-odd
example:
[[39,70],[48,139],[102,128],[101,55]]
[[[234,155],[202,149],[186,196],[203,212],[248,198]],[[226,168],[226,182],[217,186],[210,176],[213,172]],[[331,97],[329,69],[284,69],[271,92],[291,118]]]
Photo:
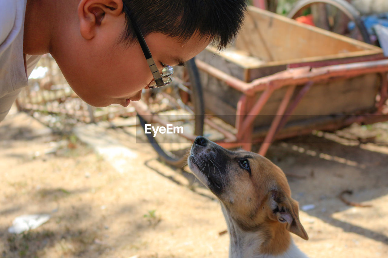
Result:
[[40,225],[47,222],[51,216],[49,214],[25,214],[16,217],[9,227],[8,232],[20,234],[30,229],[36,229]]

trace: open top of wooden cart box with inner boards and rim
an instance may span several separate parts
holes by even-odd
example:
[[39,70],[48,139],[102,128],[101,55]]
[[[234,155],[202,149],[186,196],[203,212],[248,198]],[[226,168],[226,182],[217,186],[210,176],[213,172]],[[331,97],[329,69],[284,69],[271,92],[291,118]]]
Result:
[[197,58],[245,82],[288,67],[321,67],[384,58],[381,48],[249,7],[234,45],[208,46]]

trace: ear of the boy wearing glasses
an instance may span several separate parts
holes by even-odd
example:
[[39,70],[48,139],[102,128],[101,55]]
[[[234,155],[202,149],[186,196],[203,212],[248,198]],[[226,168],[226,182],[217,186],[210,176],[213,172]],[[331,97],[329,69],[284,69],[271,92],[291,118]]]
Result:
[[119,16],[122,10],[121,0],[81,0],[77,9],[81,36],[91,40],[107,15]]

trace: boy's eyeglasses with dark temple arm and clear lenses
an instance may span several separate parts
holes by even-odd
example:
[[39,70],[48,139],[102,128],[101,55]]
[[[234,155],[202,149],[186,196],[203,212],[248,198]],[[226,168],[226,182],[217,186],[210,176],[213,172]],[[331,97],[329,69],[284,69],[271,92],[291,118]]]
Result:
[[139,41],[139,44],[143,50],[144,57],[145,59],[147,59],[147,64],[149,66],[149,69],[151,70],[152,76],[154,76],[154,81],[152,81],[149,84],[148,88],[149,89],[159,88],[167,84],[170,84],[172,80],[168,76],[173,74],[174,69],[170,65],[165,65],[162,69],[162,73],[160,74],[158,67],[155,64],[154,58],[152,58],[151,52],[149,51],[147,43],[145,43],[143,34],[140,31],[139,26],[137,26],[137,23],[133,19],[131,12],[128,9],[128,7],[126,7],[125,3],[123,3],[123,9],[132,23],[132,27],[133,27],[133,30],[135,31],[137,40]]

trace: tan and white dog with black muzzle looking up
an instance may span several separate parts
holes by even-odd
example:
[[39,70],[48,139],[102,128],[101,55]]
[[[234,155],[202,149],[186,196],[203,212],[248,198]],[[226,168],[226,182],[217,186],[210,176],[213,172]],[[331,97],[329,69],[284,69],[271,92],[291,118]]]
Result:
[[290,232],[308,239],[283,171],[249,151],[230,151],[198,136],[187,159],[192,172],[220,200],[229,258],[305,258]]

